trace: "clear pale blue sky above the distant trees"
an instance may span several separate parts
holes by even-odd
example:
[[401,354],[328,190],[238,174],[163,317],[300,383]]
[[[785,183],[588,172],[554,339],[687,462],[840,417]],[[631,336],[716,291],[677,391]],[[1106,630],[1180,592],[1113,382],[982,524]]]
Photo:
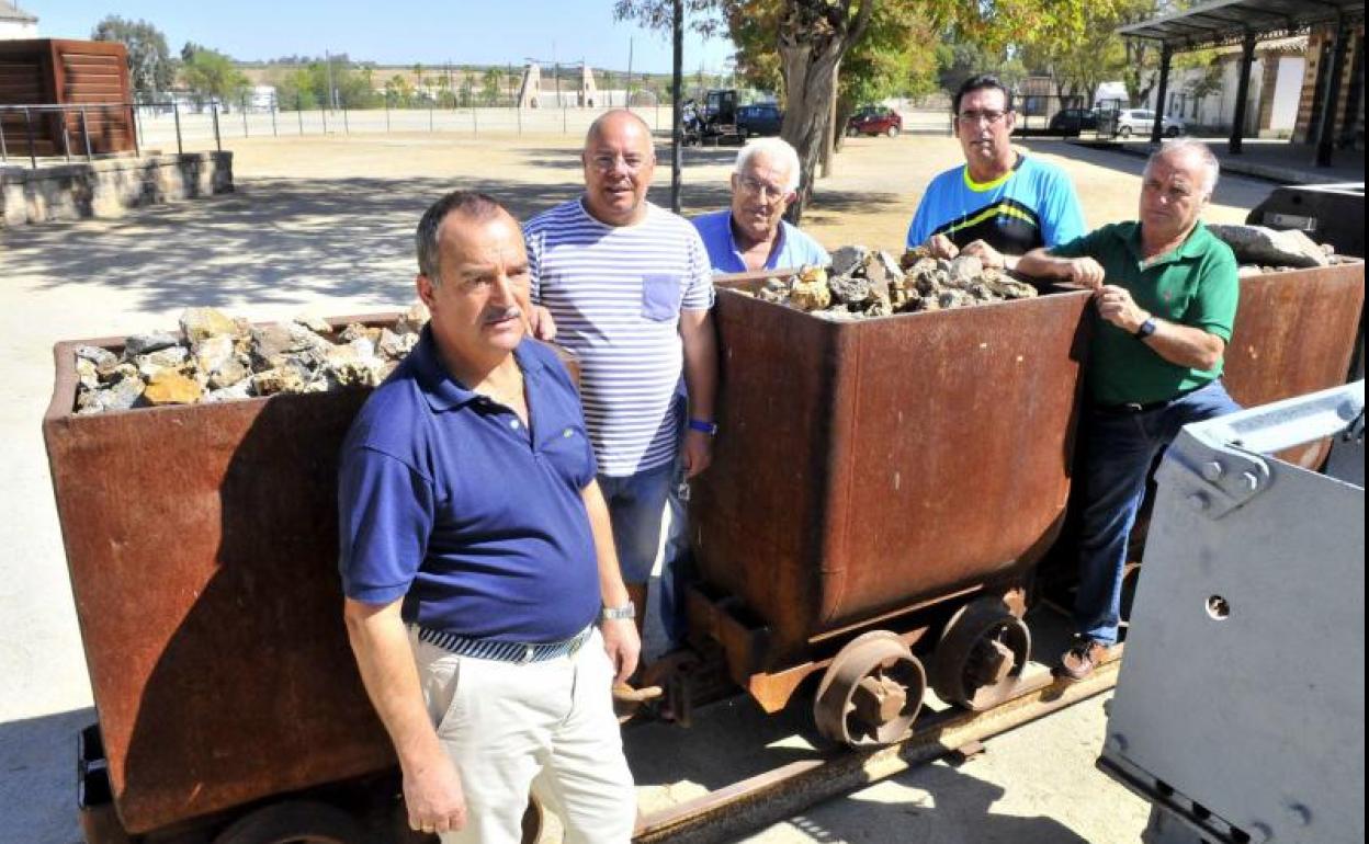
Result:
[[[348,53],[381,64],[523,64],[587,62],[669,72],[668,33],[613,21],[613,0],[18,0],[44,38],[89,38],[107,15],[144,19],[172,52],[194,41],[238,60]],[[724,72],[727,38],[686,26],[684,71]]]

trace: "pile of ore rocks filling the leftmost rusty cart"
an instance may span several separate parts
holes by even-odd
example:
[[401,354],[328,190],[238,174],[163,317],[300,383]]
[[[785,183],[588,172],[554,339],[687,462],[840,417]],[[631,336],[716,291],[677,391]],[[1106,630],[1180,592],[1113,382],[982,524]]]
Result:
[[312,315],[253,326],[214,308],[186,308],[179,334],[134,334],[120,354],[78,347],[75,410],[90,414],[374,387],[413,349],[427,320],[422,302],[393,326],[353,323],[337,332]]

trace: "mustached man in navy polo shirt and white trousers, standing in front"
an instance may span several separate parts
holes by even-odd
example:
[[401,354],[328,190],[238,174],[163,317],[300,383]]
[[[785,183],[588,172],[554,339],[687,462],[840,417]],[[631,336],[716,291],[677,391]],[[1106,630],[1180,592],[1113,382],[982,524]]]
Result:
[[537,782],[567,840],[637,817],[611,688],[637,666],[570,376],[526,339],[513,217],[452,193],[418,230],[433,319],[342,447],[345,620],[415,830],[515,844]]

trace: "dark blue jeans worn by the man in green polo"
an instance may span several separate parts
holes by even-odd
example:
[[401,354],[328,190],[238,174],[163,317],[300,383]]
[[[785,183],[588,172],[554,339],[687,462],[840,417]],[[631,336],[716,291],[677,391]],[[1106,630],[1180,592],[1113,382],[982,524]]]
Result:
[[1151,410],[1086,410],[1084,512],[1075,595],[1075,629],[1082,636],[1103,644],[1117,642],[1127,539],[1155,457],[1188,423],[1239,409],[1221,380],[1214,380]]

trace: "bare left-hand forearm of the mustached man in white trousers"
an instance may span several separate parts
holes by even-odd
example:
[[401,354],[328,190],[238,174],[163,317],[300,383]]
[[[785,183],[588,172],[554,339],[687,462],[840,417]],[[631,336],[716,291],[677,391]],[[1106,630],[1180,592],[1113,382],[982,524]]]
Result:
[[346,631],[366,694],[390,733],[400,766],[413,772],[434,755],[445,755],[423,703],[400,602],[376,607],[348,601]]

